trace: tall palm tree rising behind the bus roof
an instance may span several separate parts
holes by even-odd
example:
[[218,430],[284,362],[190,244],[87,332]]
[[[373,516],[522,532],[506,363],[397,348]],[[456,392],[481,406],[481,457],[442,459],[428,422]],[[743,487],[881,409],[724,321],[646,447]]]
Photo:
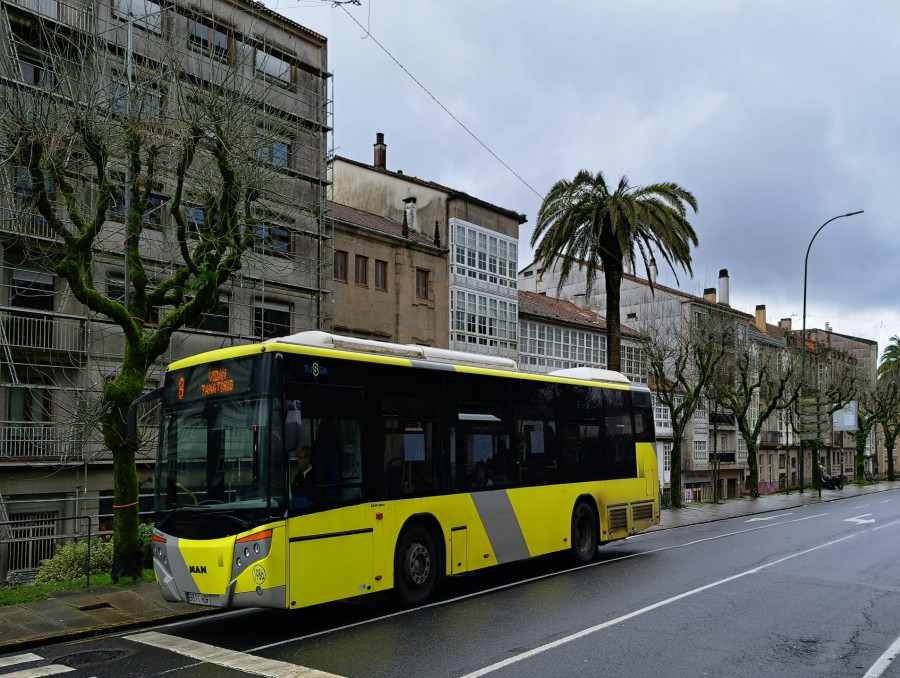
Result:
[[572,264],[587,266],[585,297],[594,286],[597,266],[606,279],[607,365],[618,370],[621,353],[619,288],[628,264],[634,270],[635,250],[640,252],[651,289],[651,263],[658,252],[672,272],[675,267],[691,274],[691,245],[697,234],[686,218],[686,206],[697,211],[694,196],[673,182],[630,186],[619,179],[610,191],[602,172],[581,170],[574,179],[560,179],[541,203],[531,245],[542,269],[562,254],[557,294],[569,277]]

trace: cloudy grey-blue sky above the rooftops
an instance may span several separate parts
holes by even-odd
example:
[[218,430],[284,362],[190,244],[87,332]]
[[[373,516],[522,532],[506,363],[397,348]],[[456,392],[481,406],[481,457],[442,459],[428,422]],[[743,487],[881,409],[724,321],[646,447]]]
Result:
[[[441,110],[348,16],[539,194],[582,168],[694,193],[700,293],[875,339],[900,332],[900,5],[812,0],[612,3],[267,0],[325,35],[339,155],[523,212],[540,197]],[[340,200],[340,196],[335,196]],[[671,277],[664,282],[674,284]]]

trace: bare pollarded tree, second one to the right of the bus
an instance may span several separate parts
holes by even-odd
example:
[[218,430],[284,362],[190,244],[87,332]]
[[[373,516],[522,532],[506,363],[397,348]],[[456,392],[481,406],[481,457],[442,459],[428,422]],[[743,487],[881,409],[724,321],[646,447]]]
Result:
[[750,496],[758,497],[760,432],[773,412],[789,408],[798,396],[793,352],[765,341],[736,341],[718,371],[710,397],[734,415],[747,445]]

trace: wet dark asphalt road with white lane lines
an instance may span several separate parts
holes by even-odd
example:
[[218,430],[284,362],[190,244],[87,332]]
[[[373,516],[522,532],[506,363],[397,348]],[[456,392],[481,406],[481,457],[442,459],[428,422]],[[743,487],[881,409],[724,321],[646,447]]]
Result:
[[900,490],[600,554],[455,579],[414,610],[373,597],[47,646],[0,676],[900,678]]

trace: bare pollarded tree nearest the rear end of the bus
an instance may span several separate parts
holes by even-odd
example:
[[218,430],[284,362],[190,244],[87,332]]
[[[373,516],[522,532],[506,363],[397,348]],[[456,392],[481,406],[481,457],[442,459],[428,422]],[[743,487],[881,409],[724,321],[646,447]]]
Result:
[[681,456],[684,435],[732,336],[727,321],[708,316],[680,324],[648,321],[642,345],[656,399],[672,421],[672,505],[681,507]]

